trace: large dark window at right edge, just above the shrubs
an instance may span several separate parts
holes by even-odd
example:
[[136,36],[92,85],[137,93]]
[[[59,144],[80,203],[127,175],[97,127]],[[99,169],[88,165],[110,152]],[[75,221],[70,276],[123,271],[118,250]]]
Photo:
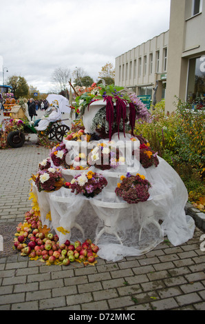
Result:
[[205,72],[200,57],[189,60],[187,100],[205,105]]

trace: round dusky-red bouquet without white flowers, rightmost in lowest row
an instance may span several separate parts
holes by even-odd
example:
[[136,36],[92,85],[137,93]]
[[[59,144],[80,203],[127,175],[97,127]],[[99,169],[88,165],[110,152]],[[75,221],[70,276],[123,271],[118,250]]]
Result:
[[118,183],[115,192],[117,196],[122,197],[127,203],[140,203],[149,199],[149,188],[151,183],[145,179],[145,176],[136,174],[132,176],[129,172],[127,176],[121,176],[122,183]]

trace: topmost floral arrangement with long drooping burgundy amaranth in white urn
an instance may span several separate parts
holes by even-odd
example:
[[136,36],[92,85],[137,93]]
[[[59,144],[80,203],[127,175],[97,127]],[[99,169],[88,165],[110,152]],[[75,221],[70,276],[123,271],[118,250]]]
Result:
[[[82,117],[85,108],[94,101],[105,101],[105,107],[94,118],[92,129],[102,138],[111,140],[114,132],[127,132],[133,135],[136,119],[148,120],[151,115],[146,106],[136,97],[136,94],[125,92],[124,88],[114,84],[100,84],[97,92],[85,92],[76,98],[76,110]],[[129,114],[127,113],[129,110]]]

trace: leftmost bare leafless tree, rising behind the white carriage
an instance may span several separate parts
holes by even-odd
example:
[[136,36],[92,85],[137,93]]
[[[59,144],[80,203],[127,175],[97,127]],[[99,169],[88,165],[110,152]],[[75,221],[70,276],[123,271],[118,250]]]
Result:
[[68,68],[56,68],[52,74],[52,81],[56,85],[56,92],[65,91],[69,86],[70,70]]

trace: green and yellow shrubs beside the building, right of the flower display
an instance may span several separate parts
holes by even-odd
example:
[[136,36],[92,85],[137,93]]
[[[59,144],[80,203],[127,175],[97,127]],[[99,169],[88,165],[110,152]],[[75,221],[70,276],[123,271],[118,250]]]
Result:
[[204,110],[177,99],[176,111],[164,114],[164,100],[151,108],[152,123],[136,123],[135,133],[149,141],[180,174],[189,199],[199,201],[204,189]]

